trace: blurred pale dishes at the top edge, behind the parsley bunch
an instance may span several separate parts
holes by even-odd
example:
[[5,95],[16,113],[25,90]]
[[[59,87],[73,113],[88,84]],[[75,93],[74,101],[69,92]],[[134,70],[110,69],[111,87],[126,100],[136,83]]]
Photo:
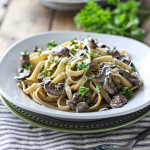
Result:
[[[84,7],[88,0],[40,0],[40,3],[46,7],[57,10],[75,11]],[[100,5],[106,3],[106,0],[95,0]]]

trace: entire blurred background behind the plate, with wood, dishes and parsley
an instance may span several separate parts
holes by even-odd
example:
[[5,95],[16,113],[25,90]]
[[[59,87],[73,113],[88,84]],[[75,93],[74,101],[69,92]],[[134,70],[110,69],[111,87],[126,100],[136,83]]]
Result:
[[0,55],[44,31],[117,34],[150,46],[150,0],[0,0]]

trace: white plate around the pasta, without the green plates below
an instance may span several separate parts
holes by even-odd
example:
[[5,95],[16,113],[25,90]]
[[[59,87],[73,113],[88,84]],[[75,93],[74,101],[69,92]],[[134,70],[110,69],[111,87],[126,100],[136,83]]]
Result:
[[[135,93],[134,97],[124,107],[103,112],[63,112],[51,108],[46,108],[35,103],[28,96],[26,96],[19,87],[17,87],[17,82],[13,79],[13,77],[15,76],[19,66],[19,54],[21,51],[28,49],[29,53],[31,53],[32,48],[35,45],[46,48],[46,43],[52,39],[55,39],[57,43],[62,43],[68,40],[72,40],[75,37],[82,39],[83,37],[89,35],[93,38],[97,38],[99,42],[105,43],[110,47],[117,46],[117,48],[126,50],[130,54],[131,60],[134,62],[136,68],[139,70],[144,85]],[[84,32],[45,32],[21,40],[7,50],[0,62],[0,93],[8,101],[21,108],[61,119],[95,120],[121,116],[140,110],[150,104],[149,65],[150,48],[145,44],[133,39],[121,36]]]

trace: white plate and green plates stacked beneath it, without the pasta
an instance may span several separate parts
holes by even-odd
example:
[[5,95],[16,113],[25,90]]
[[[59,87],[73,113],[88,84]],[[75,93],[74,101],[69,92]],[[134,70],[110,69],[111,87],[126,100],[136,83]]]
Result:
[[[31,53],[35,45],[46,48],[46,43],[53,39],[57,43],[63,43],[75,37],[80,40],[89,35],[110,47],[115,45],[117,48],[127,50],[141,75],[143,86],[124,107],[90,113],[63,112],[35,103],[17,87],[13,77],[19,66],[21,51],[28,49]],[[43,128],[72,133],[104,132],[131,124],[150,112],[149,64],[150,48],[129,38],[84,32],[45,32],[19,41],[2,57],[0,62],[1,100],[18,117]]]

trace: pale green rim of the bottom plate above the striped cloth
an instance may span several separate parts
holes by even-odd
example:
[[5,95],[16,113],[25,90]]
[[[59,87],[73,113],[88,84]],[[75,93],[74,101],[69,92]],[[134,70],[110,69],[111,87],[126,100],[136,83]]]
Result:
[[127,121],[124,124],[120,124],[120,125],[116,125],[116,126],[112,126],[112,127],[107,127],[107,128],[103,128],[103,129],[100,128],[100,129],[92,129],[92,130],[89,130],[89,129],[88,130],[73,130],[73,129],[63,129],[63,128],[60,128],[60,127],[52,127],[50,125],[46,125],[46,124],[43,124],[43,123],[36,122],[35,120],[32,120],[32,119],[28,118],[27,116],[23,115],[22,113],[17,111],[15,108],[13,108],[11,103],[8,100],[6,100],[2,95],[0,95],[0,100],[6,106],[6,108],[8,110],[10,110],[15,116],[17,116],[21,120],[24,120],[24,121],[26,121],[26,122],[34,125],[34,126],[37,126],[37,127],[41,127],[41,128],[48,129],[48,130],[64,132],[64,133],[76,133],[76,134],[79,134],[79,133],[83,134],[84,133],[84,134],[88,134],[88,133],[101,133],[101,132],[112,131],[112,130],[116,130],[116,129],[119,129],[119,128],[122,128],[122,127],[125,127],[125,126],[128,126],[128,125],[131,125],[131,124],[141,120],[142,118],[144,118],[144,117],[146,117],[147,115],[150,114],[150,110],[149,110],[146,113],[139,116],[138,118],[135,118],[131,121]]

